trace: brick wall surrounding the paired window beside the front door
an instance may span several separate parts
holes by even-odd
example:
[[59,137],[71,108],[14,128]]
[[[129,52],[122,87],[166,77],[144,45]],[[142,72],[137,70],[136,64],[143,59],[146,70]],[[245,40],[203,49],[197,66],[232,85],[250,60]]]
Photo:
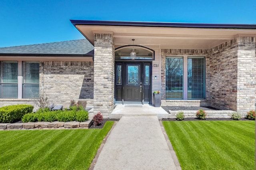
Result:
[[[162,49],[161,50],[161,92],[162,105],[185,105],[185,106],[208,106],[207,100],[166,100],[166,56],[206,56],[206,63],[208,50],[202,49]],[[207,70],[207,68],[206,68]],[[209,84],[209,75],[206,72],[206,84]],[[208,98],[206,92],[206,99]]]

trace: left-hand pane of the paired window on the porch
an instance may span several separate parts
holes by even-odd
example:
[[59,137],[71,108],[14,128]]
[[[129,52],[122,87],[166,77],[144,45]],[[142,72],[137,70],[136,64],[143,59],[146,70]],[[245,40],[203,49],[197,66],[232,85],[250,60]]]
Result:
[[166,99],[183,99],[183,58],[166,58]]

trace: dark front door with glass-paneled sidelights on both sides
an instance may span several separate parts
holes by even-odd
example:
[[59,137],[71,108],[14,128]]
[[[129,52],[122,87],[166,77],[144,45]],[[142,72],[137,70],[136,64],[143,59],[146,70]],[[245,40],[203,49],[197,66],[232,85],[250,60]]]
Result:
[[150,103],[151,63],[116,62],[116,103]]

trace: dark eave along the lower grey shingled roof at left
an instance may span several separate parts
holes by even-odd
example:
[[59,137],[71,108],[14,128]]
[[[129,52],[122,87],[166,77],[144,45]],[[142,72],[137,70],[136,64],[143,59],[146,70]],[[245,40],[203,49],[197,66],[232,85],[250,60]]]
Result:
[[0,53],[0,56],[22,57],[94,57],[93,54],[25,54],[25,53]]

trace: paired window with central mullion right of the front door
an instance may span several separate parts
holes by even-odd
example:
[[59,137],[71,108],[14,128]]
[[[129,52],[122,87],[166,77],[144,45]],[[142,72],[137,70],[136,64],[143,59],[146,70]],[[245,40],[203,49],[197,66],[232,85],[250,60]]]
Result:
[[166,99],[205,99],[205,57],[166,57]]

